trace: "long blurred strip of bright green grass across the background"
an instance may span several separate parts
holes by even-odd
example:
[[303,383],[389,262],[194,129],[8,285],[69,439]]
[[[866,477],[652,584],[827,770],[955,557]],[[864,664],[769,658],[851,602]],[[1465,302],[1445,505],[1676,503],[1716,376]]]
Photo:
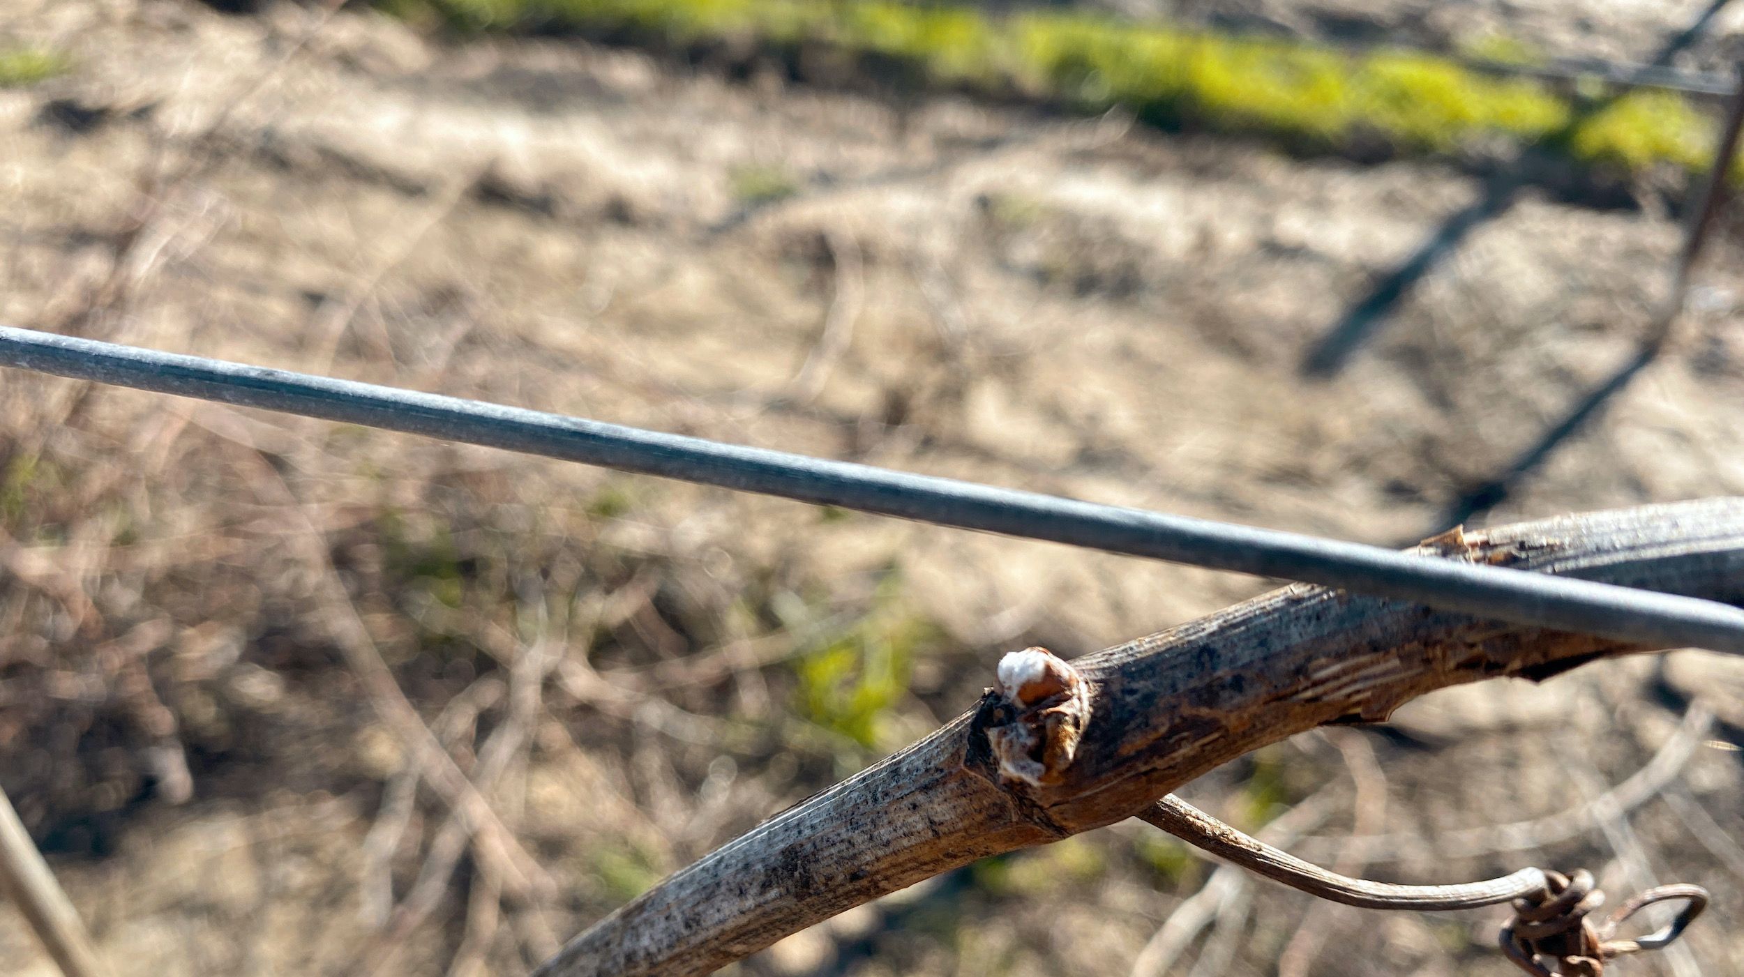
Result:
[[1087,112],[1127,106],[1165,127],[1266,134],[1299,150],[1383,145],[1458,154],[1496,138],[1641,173],[1706,169],[1714,124],[1688,99],[1634,91],[1578,110],[1536,80],[1409,51],[1350,54],[1080,12],[992,16],[888,0],[382,0],[464,30],[574,30],[664,45],[827,45],[926,84]]

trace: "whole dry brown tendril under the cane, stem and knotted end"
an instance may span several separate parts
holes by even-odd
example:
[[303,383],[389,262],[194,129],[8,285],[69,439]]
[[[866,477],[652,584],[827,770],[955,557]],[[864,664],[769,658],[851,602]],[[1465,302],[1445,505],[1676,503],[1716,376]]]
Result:
[[[1512,902],[1514,918],[1502,926],[1502,951],[1516,967],[1535,977],[1601,977],[1606,961],[1671,944],[1707,909],[1707,890],[1702,886],[1662,885],[1627,898],[1601,923],[1594,923],[1592,911],[1604,904],[1604,893],[1585,869],[1573,876],[1521,869],[1498,879],[1444,886],[1376,883],[1303,862],[1289,851],[1223,823],[1174,794],[1162,797],[1137,816],[1250,872],[1345,905],[1434,911]],[[1641,909],[1674,900],[1683,900],[1683,911],[1659,932],[1615,939],[1617,928]]]

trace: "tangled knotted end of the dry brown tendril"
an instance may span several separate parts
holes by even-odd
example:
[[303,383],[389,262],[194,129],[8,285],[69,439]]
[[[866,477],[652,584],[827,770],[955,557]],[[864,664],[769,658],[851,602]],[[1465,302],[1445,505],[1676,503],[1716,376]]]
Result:
[[[1502,953],[1535,977],[1601,977],[1606,961],[1671,944],[1707,909],[1707,890],[1702,886],[1664,885],[1636,893],[1603,923],[1594,923],[1592,911],[1604,904],[1604,893],[1594,886],[1592,872],[1545,872],[1545,890],[1516,898],[1514,918],[1502,926]],[[1617,928],[1641,909],[1672,900],[1683,900],[1683,911],[1659,932],[1613,939]]]

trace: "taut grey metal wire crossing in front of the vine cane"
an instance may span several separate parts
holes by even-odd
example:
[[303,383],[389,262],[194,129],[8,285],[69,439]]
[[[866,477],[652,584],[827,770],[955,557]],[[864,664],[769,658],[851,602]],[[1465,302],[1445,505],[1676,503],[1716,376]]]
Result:
[[0,326],[0,366],[366,424],[937,525],[1308,581],[1514,625],[1744,654],[1714,600],[1104,506],[497,403]]

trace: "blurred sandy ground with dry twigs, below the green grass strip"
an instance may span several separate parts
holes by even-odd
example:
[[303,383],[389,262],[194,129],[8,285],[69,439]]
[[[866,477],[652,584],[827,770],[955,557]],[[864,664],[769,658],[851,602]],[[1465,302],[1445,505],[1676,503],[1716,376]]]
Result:
[[[1679,239],[1664,187],[1608,211],[1524,192],[1315,379],[1481,180],[314,23],[9,3],[0,37],[77,68],[0,91],[0,319],[1402,544],[1629,361]],[[1484,518],[1744,488],[1730,230],[1672,349]],[[1001,651],[1080,654],[1263,586],[17,373],[0,403],[0,785],[122,974],[520,972],[968,707]],[[830,647],[914,656],[860,740],[806,705],[797,663]],[[408,789],[347,649],[495,773],[555,893],[499,912],[488,864],[434,872],[446,808]],[[1716,905],[1686,956],[1625,967],[1744,974],[1739,680],[1685,652],[1488,684],[1189,794],[1257,820],[1327,785],[1301,844],[1331,858],[1373,752],[1380,823],[1411,841],[1374,874],[1699,881]],[[1721,724],[1672,799],[1543,850],[1435,853],[1676,750],[1697,694]],[[1148,832],[980,865],[743,972],[1127,972],[1205,881]],[[422,918],[389,911],[419,892]],[[1509,972],[1493,914],[1245,892],[1172,972]],[[0,916],[9,970],[49,974],[35,954]]]

